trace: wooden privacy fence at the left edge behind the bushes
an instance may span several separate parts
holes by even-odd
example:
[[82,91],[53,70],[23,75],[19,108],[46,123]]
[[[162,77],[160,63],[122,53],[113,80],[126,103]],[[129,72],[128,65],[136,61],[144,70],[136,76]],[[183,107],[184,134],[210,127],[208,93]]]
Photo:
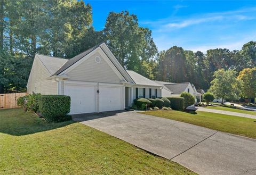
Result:
[[0,110],[19,107],[17,105],[18,98],[23,97],[27,94],[28,93],[0,94]]

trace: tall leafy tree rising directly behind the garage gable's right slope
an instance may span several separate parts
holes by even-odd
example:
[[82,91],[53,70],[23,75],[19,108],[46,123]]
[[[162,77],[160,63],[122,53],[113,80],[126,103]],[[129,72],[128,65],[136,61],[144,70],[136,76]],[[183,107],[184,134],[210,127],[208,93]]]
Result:
[[157,53],[148,28],[139,27],[137,16],[124,11],[110,12],[103,36],[119,63],[126,69],[138,72],[141,61],[149,61]]

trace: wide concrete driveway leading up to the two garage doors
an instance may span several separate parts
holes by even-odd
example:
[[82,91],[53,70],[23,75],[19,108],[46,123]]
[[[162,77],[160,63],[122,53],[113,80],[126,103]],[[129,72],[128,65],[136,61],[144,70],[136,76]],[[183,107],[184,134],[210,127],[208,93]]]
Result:
[[256,174],[255,139],[135,112],[79,114],[73,120],[199,174]]

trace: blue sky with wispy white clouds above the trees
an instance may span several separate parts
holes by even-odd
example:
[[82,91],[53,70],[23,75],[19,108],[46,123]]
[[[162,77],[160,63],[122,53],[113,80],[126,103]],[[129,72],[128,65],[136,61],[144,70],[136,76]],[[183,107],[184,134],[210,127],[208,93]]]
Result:
[[158,51],[174,45],[192,51],[241,49],[256,40],[256,1],[85,1],[93,26],[103,29],[109,12],[129,11],[152,30]]

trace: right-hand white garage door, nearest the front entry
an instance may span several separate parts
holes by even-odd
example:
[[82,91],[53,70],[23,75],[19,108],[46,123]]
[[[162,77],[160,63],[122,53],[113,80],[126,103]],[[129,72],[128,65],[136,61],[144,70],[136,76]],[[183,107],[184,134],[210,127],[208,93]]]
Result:
[[100,112],[122,109],[122,86],[100,86]]

